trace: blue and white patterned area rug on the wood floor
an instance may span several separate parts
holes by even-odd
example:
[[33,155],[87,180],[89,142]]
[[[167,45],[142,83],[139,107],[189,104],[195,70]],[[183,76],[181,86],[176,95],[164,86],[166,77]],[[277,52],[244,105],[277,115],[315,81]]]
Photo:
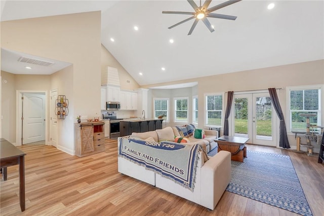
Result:
[[226,191],[301,215],[312,215],[289,156],[247,151],[244,163],[232,161]]

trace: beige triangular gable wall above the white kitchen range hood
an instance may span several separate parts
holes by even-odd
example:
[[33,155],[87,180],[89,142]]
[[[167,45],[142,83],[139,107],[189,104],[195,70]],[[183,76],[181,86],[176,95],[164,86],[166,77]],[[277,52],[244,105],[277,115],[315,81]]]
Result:
[[[101,45],[101,73],[107,73],[107,67],[114,67],[118,69],[120,89],[134,90],[138,89],[138,83],[125,70],[123,66],[111,55],[111,53]],[[127,82],[129,81],[129,83]]]

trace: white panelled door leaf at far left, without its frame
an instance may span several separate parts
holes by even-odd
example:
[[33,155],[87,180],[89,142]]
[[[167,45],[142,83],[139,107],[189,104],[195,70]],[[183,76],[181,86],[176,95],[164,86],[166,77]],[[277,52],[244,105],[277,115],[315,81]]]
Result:
[[23,93],[22,144],[45,140],[45,94]]

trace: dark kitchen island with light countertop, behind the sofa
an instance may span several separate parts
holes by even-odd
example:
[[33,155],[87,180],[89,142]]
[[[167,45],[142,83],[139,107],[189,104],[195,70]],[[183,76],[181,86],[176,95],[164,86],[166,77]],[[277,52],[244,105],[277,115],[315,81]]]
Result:
[[162,129],[163,119],[124,119],[120,120],[120,136]]

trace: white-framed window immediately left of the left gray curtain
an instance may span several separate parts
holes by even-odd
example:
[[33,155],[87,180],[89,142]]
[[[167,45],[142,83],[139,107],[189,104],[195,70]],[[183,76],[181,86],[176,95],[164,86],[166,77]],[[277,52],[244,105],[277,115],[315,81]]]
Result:
[[206,95],[206,125],[222,126],[223,94]]

